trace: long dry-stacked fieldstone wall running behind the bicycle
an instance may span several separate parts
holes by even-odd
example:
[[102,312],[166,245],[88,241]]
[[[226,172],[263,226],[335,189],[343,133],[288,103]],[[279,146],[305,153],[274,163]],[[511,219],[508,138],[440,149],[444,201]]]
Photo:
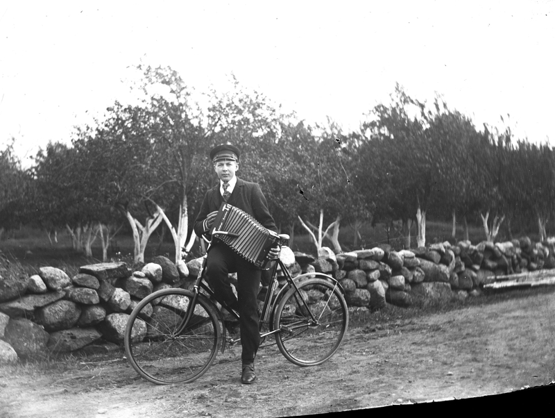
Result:
[[[552,249],[523,238],[411,251],[384,245],[334,254],[324,247],[318,256],[284,247],[281,258],[293,277],[317,271],[336,278],[350,309],[375,310],[387,303],[411,306],[417,299],[479,294],[496,275],[555,267]],[[175,265],[159,256],[141,271],[109,262],[80,267],[72,278],[54,267],[41,267],[39,274],[23,279],[0,273],[0,362],[87,350],[99,342],[121,346],[137,302],[163,288],[190,288],[201,262]],[[230,283],[235,281],[231,274]],[[285,283],[280,273],[278,281]]]

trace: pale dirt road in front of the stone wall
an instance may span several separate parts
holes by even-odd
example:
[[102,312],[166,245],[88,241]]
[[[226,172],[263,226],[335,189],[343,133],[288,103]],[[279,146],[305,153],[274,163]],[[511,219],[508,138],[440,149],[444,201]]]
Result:
[[259,380],[239,383],[240,348],[189,385],[157,386],[124,360],[66,371],[0,367],[0,415],[285,417],[509,392],[555,380],[555,292],[350,328],[319,367],[259,351]]

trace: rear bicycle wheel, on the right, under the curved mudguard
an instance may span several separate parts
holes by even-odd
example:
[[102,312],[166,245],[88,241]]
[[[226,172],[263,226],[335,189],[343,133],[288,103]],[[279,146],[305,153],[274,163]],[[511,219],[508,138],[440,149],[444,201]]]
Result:
[[298,366],[320,365],[339,349],[349,322],[339,285],[312,278],[287,292],[275,309],[275,342]]

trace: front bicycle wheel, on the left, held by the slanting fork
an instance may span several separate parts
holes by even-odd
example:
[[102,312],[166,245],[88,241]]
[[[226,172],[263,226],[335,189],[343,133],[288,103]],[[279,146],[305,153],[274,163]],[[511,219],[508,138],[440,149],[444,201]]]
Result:
[[157,385],[189,383],[212,365],[221,344],[219,319],[210,301],[172,288],[146,296],[131,312],[125,333],[127,358],[137,373]]

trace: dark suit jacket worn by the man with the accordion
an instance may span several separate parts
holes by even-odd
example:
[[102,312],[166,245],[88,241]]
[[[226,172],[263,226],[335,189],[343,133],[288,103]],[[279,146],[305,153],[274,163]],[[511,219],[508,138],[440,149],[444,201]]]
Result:
[[[198,212],[198,216],[196,217],[194,230],[198,237],[205,233],[203,221],[210,212],[219,210],[222,202],[223,197],[220,193],[220,182],[218,181],[216,186],[206,192],[203,204],[200,206],[200,212]],[[262,194],[262,190],[260,190],[258,183],[250,183],[250,181],[237,178],[237,183],[228,199],[228,203],[236,208],[244,210],[271,231],[278,232],[275,221],[268,210],[266,197]]]

